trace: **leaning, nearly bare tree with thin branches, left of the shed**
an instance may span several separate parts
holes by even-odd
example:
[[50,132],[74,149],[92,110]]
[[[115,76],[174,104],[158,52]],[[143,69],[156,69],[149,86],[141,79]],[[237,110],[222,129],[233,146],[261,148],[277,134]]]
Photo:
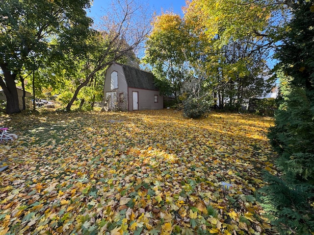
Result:
[[142,43],[151,30],[147,9],[145,4],[139,4],[135,0],[114,0],[112,2],[112,7],[107,10],[101,23],[97,26],[105,39],[103,48],[97,61],[92,65],[91,72],[82,78],[77,86],[66,107],[67,111],[71,110],[79,91],[89,84],[96,72],[104,70],[115,61],[125,57],[131,58],[134,51],[142,47]]

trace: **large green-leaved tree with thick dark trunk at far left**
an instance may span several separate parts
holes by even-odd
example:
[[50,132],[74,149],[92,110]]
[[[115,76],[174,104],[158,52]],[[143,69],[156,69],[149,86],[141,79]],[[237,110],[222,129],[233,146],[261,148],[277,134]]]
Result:
[[22,68],[37,70],[36,59],[50,54],[55,42],[72,47],[87,36],[89,0],[2,0],[0,4],[0,86],[7,97],[6,112],[19,112],[15,81]]

